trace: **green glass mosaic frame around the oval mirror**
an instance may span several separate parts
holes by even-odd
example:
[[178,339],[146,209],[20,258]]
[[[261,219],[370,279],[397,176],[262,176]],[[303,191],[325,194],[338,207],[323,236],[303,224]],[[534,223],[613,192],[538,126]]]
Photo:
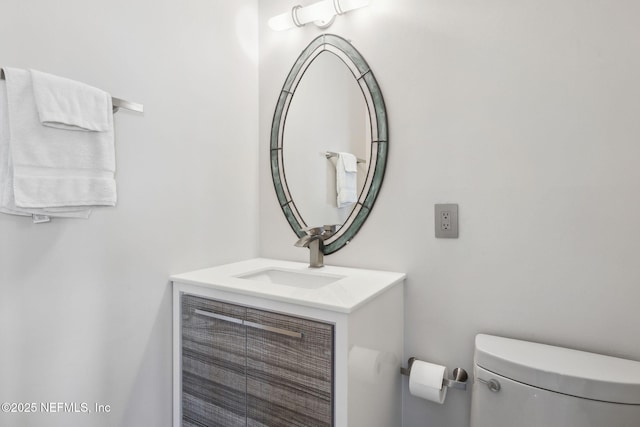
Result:
[[362,55],[351,43],[333,34],[323,34],[315,38],[300,54],[287,76],[271,125],[271,177],[275,187],[278,202],[289,225],[298,237],[306,234],[309,226],[323,226],[324,224],[307,225],[298,211],[287,186],[283,163],[284,126],[291,99],[295,94],[298,83],[313,60],[322,52],[330,52],[342,60],[356,79],[365,98],[371,126],[371,156],[364,187],[354,204],[350,215],[342,226],[331,237],[325,239],[324,254],[331,254],[348,244],[358,233],[369,216],[373,204],[378,197],[387,164],[389,145],[389,130],[387,111],[373,72]]

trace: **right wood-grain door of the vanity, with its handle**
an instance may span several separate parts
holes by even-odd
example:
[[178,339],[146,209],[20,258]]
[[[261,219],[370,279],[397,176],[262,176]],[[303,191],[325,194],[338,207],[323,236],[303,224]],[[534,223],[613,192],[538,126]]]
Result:
[[247,309],[247,426],[333,425],[331,324]]

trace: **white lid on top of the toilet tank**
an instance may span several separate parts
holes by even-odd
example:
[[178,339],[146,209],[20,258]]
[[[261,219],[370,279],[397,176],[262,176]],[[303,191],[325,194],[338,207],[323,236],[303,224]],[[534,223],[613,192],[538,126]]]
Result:
[[480,334],[475,363],[533,387],[640,405],[640,362],[633,360]]

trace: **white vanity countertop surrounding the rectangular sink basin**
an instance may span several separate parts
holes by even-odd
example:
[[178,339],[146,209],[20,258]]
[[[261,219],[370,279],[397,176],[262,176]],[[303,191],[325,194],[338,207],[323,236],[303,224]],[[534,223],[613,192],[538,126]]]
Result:
[[[282,269],[307,274],[344,276],[322,287],[308,289],[249,280],[237,276],[265,269]],[[227,292],[284,301],[298,305],[350,313],[387,289],[401,283],[404,273],[334,267],[309,268],[308,264],[255,258],[233,264],[174,274],[174,283],[187,283]]]

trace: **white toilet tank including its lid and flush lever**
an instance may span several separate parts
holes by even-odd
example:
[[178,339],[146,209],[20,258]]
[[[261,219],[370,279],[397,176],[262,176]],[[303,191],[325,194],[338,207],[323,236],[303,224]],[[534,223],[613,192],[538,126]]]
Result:
[[471,427],[640,427],[640,362],[478,335]]

